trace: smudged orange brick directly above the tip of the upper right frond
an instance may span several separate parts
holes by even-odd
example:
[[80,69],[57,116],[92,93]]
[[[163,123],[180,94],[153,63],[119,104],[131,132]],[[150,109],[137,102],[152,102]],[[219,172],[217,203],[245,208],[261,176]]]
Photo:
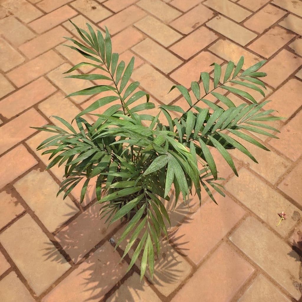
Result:
[[295,35],[288,31],[276,26],[255,40],[247,48],[268,59],[288,43],[294,36]]

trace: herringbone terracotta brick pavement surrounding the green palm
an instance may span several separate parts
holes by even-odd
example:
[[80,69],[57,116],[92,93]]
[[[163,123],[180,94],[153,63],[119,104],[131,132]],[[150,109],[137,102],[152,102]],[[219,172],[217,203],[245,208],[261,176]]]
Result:
[[[93,188],[81,205],[80,190],[56,198],[64,171],[45,172],[35,150],[47,133],[29,126],[55,123],[53,114],[70,121],[93,101],[63,99],[83,85],[61,79],[82,61],[60,45],[77,37],[68,18],[107,26],[114,51],[136,56],[132,80],[156,104],[185,107],[176,90],[166,93],[214,61],[268,59],[267,109],[286,117],[280,140],[258,135],[270,153],[248,146],[259,165],[233,152],[239,178],[218,157],[227,197],[178,205],[153,281],[139,282],[139,264],[124,275],[124,245],[113,252],[109,242],[124,226],[98,220]],[[301,35],[299,0],[0,0],[0,300],[302,301]],[[281,211],[288,219],[277,228]]]

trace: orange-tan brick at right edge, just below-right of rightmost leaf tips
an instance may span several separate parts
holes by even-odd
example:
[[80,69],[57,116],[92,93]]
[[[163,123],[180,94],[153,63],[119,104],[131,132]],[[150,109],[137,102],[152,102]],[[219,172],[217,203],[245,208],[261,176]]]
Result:
[[[281,133],[278,133],[280,140],[270,140],[269,144],[275,149],[283,153],[285,156],[293,161],[296,161],[302,150],[301,125],[302,111],[300,111],[292,120],[288,122],[283,128]],[[293,148],[293,146],[295,146]]]

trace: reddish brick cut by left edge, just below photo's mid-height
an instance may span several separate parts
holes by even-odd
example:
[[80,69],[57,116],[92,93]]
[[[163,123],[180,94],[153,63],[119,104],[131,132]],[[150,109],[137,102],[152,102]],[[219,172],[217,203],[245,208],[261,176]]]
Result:
[[[16,161],[17,158],[22,158],[22,161]],[[5,168],[0,174],[0,188],[12,182],[37,163],[23,145],[15,147],[0,157],[0,166]]]

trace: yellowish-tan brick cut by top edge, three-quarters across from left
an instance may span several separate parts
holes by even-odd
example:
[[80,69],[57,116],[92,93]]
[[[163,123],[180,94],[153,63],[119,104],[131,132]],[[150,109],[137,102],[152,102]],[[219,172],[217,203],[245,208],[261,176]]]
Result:
[[246,9],[228,0],[207,0],[203,4],[236,22],[241,22],[251,15]]

